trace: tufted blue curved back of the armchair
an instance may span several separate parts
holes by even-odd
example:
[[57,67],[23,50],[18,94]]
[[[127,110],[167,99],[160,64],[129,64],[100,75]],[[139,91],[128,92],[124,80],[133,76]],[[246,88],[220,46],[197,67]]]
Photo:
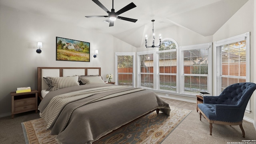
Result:
[[247,105],[255,89],[256,84],[251,82],[232,84],[222,91],[217,104]]

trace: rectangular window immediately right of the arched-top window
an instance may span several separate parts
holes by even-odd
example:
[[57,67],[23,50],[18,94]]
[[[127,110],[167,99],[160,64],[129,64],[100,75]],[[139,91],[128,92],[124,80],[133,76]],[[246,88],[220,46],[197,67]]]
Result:
[[212,43],[180,47],[180,93],[212,94],[211,48]]

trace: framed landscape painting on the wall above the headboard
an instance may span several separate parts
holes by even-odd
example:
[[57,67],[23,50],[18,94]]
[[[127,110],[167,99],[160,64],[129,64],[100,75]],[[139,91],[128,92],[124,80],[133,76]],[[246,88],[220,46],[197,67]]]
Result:
[[56,37],[56,60],[90,62],[90,42]]

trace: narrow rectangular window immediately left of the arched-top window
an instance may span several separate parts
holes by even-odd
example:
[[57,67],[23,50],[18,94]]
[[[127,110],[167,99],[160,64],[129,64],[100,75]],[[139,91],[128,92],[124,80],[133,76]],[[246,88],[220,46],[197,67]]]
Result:
[[153,51],[137,53],[138,87],[154,89],[154,54]]

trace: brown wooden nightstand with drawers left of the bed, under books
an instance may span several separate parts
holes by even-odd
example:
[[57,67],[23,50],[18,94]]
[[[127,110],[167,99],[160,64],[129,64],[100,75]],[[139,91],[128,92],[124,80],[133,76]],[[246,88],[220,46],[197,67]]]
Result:
[[14,114],[19,114],[22,112],[28,112],[31,110],[38,111],[37,105],[37,90],[31,90],[31,92],[22,92],[16,93],[11,92],[12,96],[12,118],[14,118]]

